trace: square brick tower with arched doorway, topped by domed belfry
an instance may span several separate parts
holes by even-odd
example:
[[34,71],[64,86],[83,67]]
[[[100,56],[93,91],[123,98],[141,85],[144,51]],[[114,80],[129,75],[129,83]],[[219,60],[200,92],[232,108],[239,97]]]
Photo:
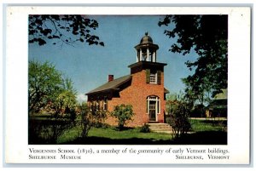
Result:
[[164,67],[166,63],[157,61],[159,46],[154,44],[148,32],[141,38],[139,44],[134,47],[137,51],[137,61],[131,64],[131,98],[136,101],[137,118],[146,123],[164,123],[166,94],[164,87]]

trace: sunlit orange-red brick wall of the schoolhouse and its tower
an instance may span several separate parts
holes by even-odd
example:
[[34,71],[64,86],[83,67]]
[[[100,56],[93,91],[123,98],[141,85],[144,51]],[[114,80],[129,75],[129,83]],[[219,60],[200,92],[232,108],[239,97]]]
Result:
[[[147,97],[148,95],[156,95],[160,98],[160,114],[157,114],[157,121],[164,123],[164,110],[166,108],[166,101],[164,100],[164,72],[161,72],[161,83],[152,84],[146,83],[146,71],[140,71],[131,75],[131,86],[119,92],[120,98],[113,98],[108,100],[108,111],[113,111],[114,105],[132,105],[135,113],[132,121],[128,122],[126,126],[136,127],[143,123],[148,123],[147,114]],[[117,125],[115,118],[109,117],[106,123]]]

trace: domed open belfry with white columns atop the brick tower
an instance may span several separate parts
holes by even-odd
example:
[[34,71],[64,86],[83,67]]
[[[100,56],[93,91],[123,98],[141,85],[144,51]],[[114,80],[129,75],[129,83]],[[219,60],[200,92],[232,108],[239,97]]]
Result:
[[137,50],[137,62],[150,61],[156,62],[156,50],[159,48],[157,44],[153,43],[151,37],[148,36],[148,32],[141,39],[141,42],[135,47]]

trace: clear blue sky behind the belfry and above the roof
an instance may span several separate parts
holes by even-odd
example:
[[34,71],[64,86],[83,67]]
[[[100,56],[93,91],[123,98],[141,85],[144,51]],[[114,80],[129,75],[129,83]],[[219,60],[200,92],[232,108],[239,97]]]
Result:
[[164,16],[157,15],[90,15],[99,23],[95,35],[100,37],[105,46],[96,46],[84,43],[75,43],[73,46],[46,43],[38,46],[29,44],[28,60],[39,62],[49,61],[61,71],[65,77],[73,81],[77,90],[78,100],[86,100],[84,94],[108,82],[108,75],[114,78],[130,74],[129,65],[136,62],[136,49],[141,38],[148,31],[154,44],[159,45],[157,62],[166,63],[165,87],[170,94],[183,90],[181,78],[187,77],[192,72],[185,66],[187,60],[196,60],[197,54],[191,52],[183,54],[169,51],[175,38],[166,37],[164,31],[172,26],[158,26],[158,21]]

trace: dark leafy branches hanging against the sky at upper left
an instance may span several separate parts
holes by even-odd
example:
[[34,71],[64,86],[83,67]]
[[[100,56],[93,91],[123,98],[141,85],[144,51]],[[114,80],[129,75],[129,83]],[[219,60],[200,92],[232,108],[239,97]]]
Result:
[[100,38],[92,34],[98,27],[96,20],[80,14],[30,14],[28,17],[29,43],[42,46],[47,40],[72,45],[75,42],[100,44]]

